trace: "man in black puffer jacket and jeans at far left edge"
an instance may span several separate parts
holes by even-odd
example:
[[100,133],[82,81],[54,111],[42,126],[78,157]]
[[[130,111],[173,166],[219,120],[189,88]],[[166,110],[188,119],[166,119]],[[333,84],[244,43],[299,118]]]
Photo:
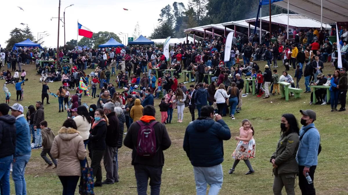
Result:
[[8,115],[10,107],[2,103],[0,104],[0,163],[3,168],[0,179],[2,181],[2,194],[10,194],[10,164],[13,160],[13,154],[16,150],[16,118]]

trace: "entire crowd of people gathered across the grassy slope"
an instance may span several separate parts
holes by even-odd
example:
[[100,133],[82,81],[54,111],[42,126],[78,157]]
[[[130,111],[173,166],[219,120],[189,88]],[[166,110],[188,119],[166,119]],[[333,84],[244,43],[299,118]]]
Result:
[[[333,28],[332,32],[335,30]],[[177,122],[183,122],[184,109],[189,107],[191,122],[186,129],[183,147],[194,167],[197,194],[206,192],[207,183],[211,185],[209,193],[211,191],[212,194],[217,194],[221,188],[223,176],[222,140],[228,140],[231,137],[229,128],[222,117],[230,116],[234,120],[236,113],[242,110],[242,96],[247,91],[245,88],[247,81],[242,78],[243,76],[255,78],[258,97],[265,94],[264,99],[269,98],[270,95],[280,94],[278,82],[288,82],[295,87],[294,80],[296,80],[296,88],[300,88],[299,80],[304,76],[305,93],[312,93],[311,103],[313,103],[313,92],[309,85],[327,85],[330,86],[331,111],[338,110],[339,102],[341,104],[339,111],[345,111],[348,88],[346,73],[348,62],[345,56],[345,50],[348,48],[345,38],[348,36],[345,35],[347,29],[343,28],[340,32],[342,68],[338,68],[337,63],[337,44],[341,43],[331,43],[326,38],[327,31],[319,33],[316,29],[312,32],[313,29],[304,31],[298,28],[295,31],[294,39],[291,41],[285,39],[286,32],[280,30],[273,32],[272,35],[264,34],[261,36],[260,45],[257,34],[251,34],[250,37],[247,35],[234,37],[231,58],[227,62],[223,60],[226,42],[226,37],[223,36],[207,37],[198,43],[175,44],[170,49],[170,59],[166,59],[162,48],[152,46],[125,48],[118,46],[86,50],[64,48],[58,52],[58,58],[55,57],[56,49],[45,51],[39,48],[19,48],[18,51],[1,51],[1,57],[2,53],[5,53],[5,59],[2,62],[7,63],[8,70],[0,74],[3,79],[6,79],[6,83],[15,84],[17,101],[23,100],[22,84],[24,85],[26,77],[26,72],[22,70],[24,63],[29,64],[35,61],[37,74],[41,76],[40,82],[42,82],[41,101],[37,101],[35,106],[28,107],[27,121],[24,120],[24,109],[21,104],[15,103],[10,107],[15,118],[5,111],[9,109],[7,104],[0,105],[0,122],[6,122],[12,126],[16,124],[16,127],[20,128],[16,130],[18,143],[16,139],[11,139],[13,141],[11,144],[7,143],[8,141],[0,143],[1,145],[7,143],[6,147],[13,147],[9,148],[9,152],[1,157],[1,160],[10,162],[13,158],[18,159],[16,160],[17,175],[13,177],[16,193],[25,194],[25,185],[19,184],[23,182],[25,184],[24,171],[19,172],[19,170],[25,169],[30,158],[30,151],[41,148],[41,156],[47,163],[46,168],[57,169],[57,175],[63,185],[63,194],[74,193],[81,177],[81,167],[86,166],[86,148],[91,159],[93,177],[96,178],[94,186],[101,187],[117,183],[119,181],[117,153],[123,142],[126,147],[133,150],[132,165],[135,169],[138,194],[146,193],[148,178],[150,178],[151,193],[159,194],[161,170],[164,164],[163,150],[171,145],[166,125],[172,123],[175,109]],[[318,35],[316,35],[317,32]],[[323,39],[322,34],[324,34]],[[272,42],[273,37],[278,39]],[[61,63],[65,56],[69,62]],[[236,59],[240,57],[243,61],[238,63]],[[45,58],[52,62],[44,62],[44,66],[41,67],[37,62]],[[257,64],[259,60],[267,61],[264,70],[261,70]],[[280,65],[278,60],[282,60],[285,69],[280,76],[275,69],[281,69],[278,67]],[[325,77],[323,69],[326,61],[332,61],[332,66],[336,70],[332,75],[328,74]],[[11,75],[10,65],[12,65],[12,71],[15,71],[14,76]],[[289,73],[291,66],[294,70],[293,76]],[[90,74],[86,73],[87,69],[91,69]],[[173,71],[166,71],[166,69]],[[192,72],[182,75],[184,69]],[[19,73],[21,73],[21,82],[19,82]],[[192,74],[191,82],[195,83],[185,86],[185,83],[178,82],[178,78],[189,77],[189,74]],[[212,75],[211,84],[208,84],[210,75]],[[92,88],[91,95],[87,93],[86,88],[80,88],[81,81]],[[62,82],[62,85],[56,93],[51,93],[49,82]],[[101,90],[98,94],[97,88]],[[82,93],[96,99],[95,104],[90,106],[85,104]],[[56,136],[45,120],[44,100],[46,98],[46,104],[49,104],[49,94],[58,97],[58,112],[64,113],[66,110],[68,117]],[[8,95],[6,103],[9,104]],[[316,90],[314,95],[318,99],[318,102],[314,102],[315,104],[326,104],[325,89]],[[155,102],[157,99],[161,99],[159,103]],[[157,122],[155,118],[157,106],[161,113],[160,122]],[[195,118],[196,109],[197,119]],[[301,129],[293,115],[286,114],[282,117],[282,136],[279,143],[288,144],[278,144],[276,152],[271,156],[270,162],[275,175],[273,186],[275,194],[280,194],[283,186],[288,194],[294,194],[296,175],[299,175],[302,194],[314,192],[313,183],[308,183],[307,180],[314,179],[317,165],[317,155],[314,154],[318,153],[320,136],[313,124],[316,120],[315,112],[312,110],[300,112],[303,125]],[[123,141],[124,128],[127,134]],[[139,129],[143,128],[150,133],[151,136],[147,138],[151,137],[148,140],[156,145],[155,151],[139,141],[140,136],[144,136],[139,133]],[[13,131],[12,128],[1,130],[6,129]],[[255,157],[255,140],[253,139],[255,132],[251,121],[247,119],[242,121],[242,127],[239,130],[240,136],[235,137],[238,145],[232,154],[235,162],[229,173],[232,174],[238,162],[244,160],[249,169],[246,175],[249,175],[255,172],[249,161]],[[203,135],[200,134],[202,132],[204,132]],[[309,133],[306,134],[306,132]],[[198,133],[208,143],[215,144],[216,150],[204,150],[203,148],[208,145],[202,145],[206,142],[201,140],[197,143],[189,141],[193,140],[190,139],[191,136]],[[30,134],[32,134],[31,145]],[[13,136],[13,134],[8,135]],[[17,147],[20,147],[18,151]],[[292,153],[284,153],[285,150],[290,149]],[[211,158],[208,160],[207,151]],[[47,158],[47,154],[51,160]],[[150,160],[148,156],[151,156]],[[6,159],[2,159],[5,157]],[[102,160],[106,171],[104,181]],[[13,166],[15,170],[15,164]],[[207,176],[206,173],[211,170],[217,170],[216,176]],[[145,174],[145,172],[151,174]],[[8,175],[9,169],[6,169],[4,171],[6,179]],[[2,181],[3,189],[7,190],[8,179]]]

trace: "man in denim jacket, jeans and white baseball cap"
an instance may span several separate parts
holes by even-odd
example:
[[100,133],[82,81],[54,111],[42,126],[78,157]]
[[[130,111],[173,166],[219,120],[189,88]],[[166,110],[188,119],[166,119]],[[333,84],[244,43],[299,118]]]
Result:
[[23,115],[23,106],[15,103],[10,108],[11,115],[16,117],[16,149],[12,162],[12,179],[15,183],[16,194],[26,194],[24,173],[31,154],[30,128]]

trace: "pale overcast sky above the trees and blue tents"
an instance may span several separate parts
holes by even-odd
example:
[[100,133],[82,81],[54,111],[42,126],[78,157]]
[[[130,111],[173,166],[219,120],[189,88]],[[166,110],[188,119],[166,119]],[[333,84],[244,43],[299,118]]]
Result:
[[[43,46],[57,47],[57,29],[58,19],[58,0],[16,0],[1,2],[1,15],[3,18],[0,31],[0,44],[2,48],[6,47],[5,41],[9,39],[9,33],[14,28],[25,28],[20,23],[28,24],[37,40],[38,32],[49,33],[44,37]],[[128,33],[132,37],[134,26],[139,22],[141,32],[144,36],[149,36],[153,32],[153,27],[158,25],[157,19],[161,8],[166,5],[172,5],[175,0],[62,0],[61,17],[65,12],[65,40],[77,38],[77,20],[83,26],[91,29],[93,32],[109,31],[113,33]],[[176,0],[183,2],[187,6],[188,0]],[[21,10],[17,6],[24,9]],[[123,10],[129,9],[129,11]],[[64,44],[64,27],[60,23],[59,45]],[[46,34],[44,33],[44,34]],[[119,35],[123,42],[124,38]],[[82,36],[79,36],[80,40]]]

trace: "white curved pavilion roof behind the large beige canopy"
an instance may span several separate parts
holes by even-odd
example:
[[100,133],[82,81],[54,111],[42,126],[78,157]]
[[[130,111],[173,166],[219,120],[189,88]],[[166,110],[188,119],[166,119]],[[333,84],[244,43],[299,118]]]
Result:
[[[289,8],[290,9],[290,8]],[[269,23],[269,16],[261,17],[262,23]],[[251,18],[245,20],[246,22],[255,22],[256,18]],[[260,20],[259,20],[260,21]],[[277,14],[271,16],[271,22],[277,23],[281,26],[287,26],[287,14]],[[311,27],[311,28],[320,28],[321,23],[319,21],[309,19],[299,14],[289,14],[289,26],[291,27]],[[323,23],[323,28],[331,28],[330,25],[325,25]]]

